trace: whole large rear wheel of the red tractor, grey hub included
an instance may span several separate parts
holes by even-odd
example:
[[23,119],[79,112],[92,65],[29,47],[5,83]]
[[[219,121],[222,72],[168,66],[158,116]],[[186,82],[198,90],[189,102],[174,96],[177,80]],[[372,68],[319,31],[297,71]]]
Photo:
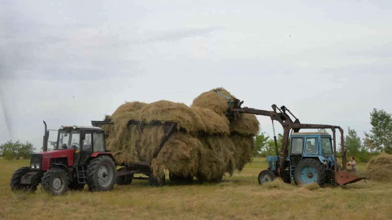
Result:
[[116,165],[109,156],[91,159],[87,165],[87,186],[90,191],[109,191],[116,183]]

